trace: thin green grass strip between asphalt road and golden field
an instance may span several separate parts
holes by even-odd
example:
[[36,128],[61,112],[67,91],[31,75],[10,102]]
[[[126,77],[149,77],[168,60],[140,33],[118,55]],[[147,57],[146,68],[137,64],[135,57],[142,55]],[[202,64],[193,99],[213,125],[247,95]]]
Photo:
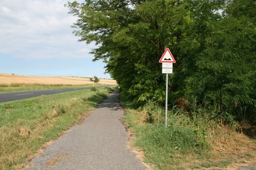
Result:
[[[34,90],[54,90],[54,89],[66,89],[66,88],[82,88],[91,87],[92,85],[67,85],[67,84],[26,84],[26,83],[12,83],[12,84],[0,84],[0,93],[8,92],[22,92],[22,91],[34,91]],[[95,87],[101,86],[95,84]]]

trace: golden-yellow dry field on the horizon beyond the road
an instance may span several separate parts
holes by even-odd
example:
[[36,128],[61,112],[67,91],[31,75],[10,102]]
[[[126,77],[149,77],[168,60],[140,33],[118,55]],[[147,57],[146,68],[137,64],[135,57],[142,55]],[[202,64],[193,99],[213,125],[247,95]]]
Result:
[[[69,84],[84,85],[92,84],[89,78],[78,77],[34,77],[34,76],[17,76],[0,73],[0,84],[25,83],[25,84]],[[115,80],[100,79],[100,84],[116,85]]]

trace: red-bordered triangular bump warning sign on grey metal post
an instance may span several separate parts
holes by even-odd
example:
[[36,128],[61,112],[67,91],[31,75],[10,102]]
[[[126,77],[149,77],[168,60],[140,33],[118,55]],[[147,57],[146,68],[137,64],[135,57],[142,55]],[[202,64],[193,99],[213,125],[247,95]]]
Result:
[[166,74],[166,91],[165,91],[165,128],[167,128],[167,110],[168,110],[168,74],[173,73],[173,63],[176,63],[169,48],[166,48],[164,54],[159,60],[162,63],[162,73]]

